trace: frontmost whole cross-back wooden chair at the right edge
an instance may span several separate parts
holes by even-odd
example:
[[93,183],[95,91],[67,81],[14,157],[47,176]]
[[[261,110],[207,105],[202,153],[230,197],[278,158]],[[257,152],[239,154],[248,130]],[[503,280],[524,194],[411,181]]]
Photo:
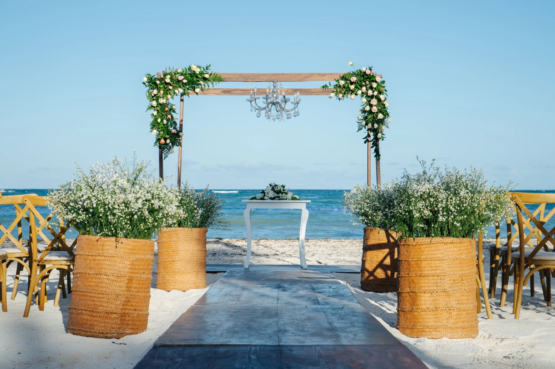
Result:
[[[520,318],[520,307],[522,304],[522,291],[528,280],[536,271],[543,272],[546,278],[547,306],[551,306],[551,276],[555,269],[555,227],[548,230],[544,225],[555,214],[555,206],[546,215],[546,205],[555,204],[555,193],[524,193],[512,194],[512,200],[517,209],[519,247],[518,252],[511,254],[511,262],[514,263],[514,304],[513,314],[515,319]],[[531,212],[527,204],[538,204],[536,211]],[[528,234],[526,234],[528,231]],[[536,237],[537,245],[533,248],[524,247],[529,241]],[[548,242],[554,249],[549,249]],[[526,269],[530,269],[524,275]],[[542,283],[543,285],[543,283]]]

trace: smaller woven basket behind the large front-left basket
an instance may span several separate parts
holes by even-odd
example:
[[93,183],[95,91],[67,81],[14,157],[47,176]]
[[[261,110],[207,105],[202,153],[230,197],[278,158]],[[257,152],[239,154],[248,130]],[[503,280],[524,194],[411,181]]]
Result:
[[206,288],[206,228],[165,228],[158,233],[156,288]]

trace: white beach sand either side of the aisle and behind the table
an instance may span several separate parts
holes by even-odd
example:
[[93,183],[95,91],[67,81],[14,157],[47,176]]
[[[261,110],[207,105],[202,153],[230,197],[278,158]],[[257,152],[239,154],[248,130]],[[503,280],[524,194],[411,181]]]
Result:
[[[6,247],[6,245],[2,245]],[[246,240],[216,239],[208,242],[209,264],[242,264]],[[309,264],[360,264],[362,240],[307,240],[306,259]],[[486,253],[486,265],[489,254]],[[253,265],[299,264],[298,240],[253,240]],[[11,266],[8,271],[8,295],[13,285]],[[489,280],[486,270],[486,279]],[[213,283],[221,274],[207,274]],[[360,303],[430,368],[554,368],[555,307],[547,307],[541,286],[536,280],[536,297],[524,289],[521,319],[515,320],[512,311],[512,279],[509,283],[507,305],[499,307],[492,299],[493,320],[486,319],[485,309],[478,315],[480,335],[476,339],[413,339],[395,329],[397,296],[395,293],[369,293],[360,289],[360,274],[334,273],[345,281]],[[67,334],[65,323],[68,299],[60,299],[54,307],[49,300],[44,311],[31,306],[31,314],[23,318],[26,296],[26,277],[22,278],[15,301],[9,300],[8,313],[0,312],[1,368],[132,368],[152,347],[153,342],[206,289],[187,292],[152,289],[148,330],[120,340],[93,339]],[[57,273],[53,271],[48,293],[54,296]],[[153,285],[154,285],[153,281]],[[500,281],[498,281],[498,285]],[[124,345],[125,344],[125,345]]]

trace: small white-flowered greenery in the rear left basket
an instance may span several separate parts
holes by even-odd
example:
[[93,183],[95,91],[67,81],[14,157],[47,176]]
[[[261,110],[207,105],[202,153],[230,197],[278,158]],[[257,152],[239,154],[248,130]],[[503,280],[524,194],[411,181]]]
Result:
[[229,229],[230,223],[225,221],[225,214],[221,212],[225,198],[210,193],[208,186],[201,192],[195,192],[186,182],[176,191],[179,213],[176,214],[174,227]]

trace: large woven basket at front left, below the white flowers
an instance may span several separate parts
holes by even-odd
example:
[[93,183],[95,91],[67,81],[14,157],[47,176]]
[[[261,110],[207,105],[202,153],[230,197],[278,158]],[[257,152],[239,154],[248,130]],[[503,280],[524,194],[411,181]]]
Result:
[[120,338],[147,330],[154,240],[78,235],[68,333]]

